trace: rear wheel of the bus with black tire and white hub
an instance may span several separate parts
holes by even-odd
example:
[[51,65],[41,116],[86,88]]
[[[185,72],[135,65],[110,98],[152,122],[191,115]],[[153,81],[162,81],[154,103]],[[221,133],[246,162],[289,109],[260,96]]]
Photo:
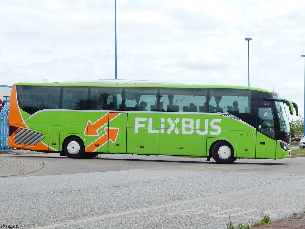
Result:
[[84,143],[78,137],[69,137],[63,143],[63,152],[68,158],[82,158],[85,153]]

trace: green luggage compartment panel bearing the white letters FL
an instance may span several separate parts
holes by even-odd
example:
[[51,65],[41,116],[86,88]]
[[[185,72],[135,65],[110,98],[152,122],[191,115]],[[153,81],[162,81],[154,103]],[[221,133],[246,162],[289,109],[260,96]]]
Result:
[[127,154],[157,154],[157,119],[157,113],[128,113]]

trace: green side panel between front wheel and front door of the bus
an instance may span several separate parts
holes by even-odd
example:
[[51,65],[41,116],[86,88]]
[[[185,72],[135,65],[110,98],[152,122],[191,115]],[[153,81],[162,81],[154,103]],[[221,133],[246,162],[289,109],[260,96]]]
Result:
[[255,158],[256,131],[237,131],[237,157]]

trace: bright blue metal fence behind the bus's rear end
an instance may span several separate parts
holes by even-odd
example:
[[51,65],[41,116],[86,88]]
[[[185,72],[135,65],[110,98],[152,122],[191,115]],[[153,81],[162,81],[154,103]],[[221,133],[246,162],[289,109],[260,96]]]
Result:
[[8,145],[9,139],[9,106],[0,111],[0,150],[12,150]]

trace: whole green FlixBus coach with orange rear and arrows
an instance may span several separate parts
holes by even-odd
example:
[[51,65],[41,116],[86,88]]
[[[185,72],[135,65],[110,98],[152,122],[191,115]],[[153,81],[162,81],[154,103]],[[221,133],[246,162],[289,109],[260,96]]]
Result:
[[136,80],[16,83],[9,146],[70,158],[181,155],[231,163],[289,158],[297,105],[242,86]]

